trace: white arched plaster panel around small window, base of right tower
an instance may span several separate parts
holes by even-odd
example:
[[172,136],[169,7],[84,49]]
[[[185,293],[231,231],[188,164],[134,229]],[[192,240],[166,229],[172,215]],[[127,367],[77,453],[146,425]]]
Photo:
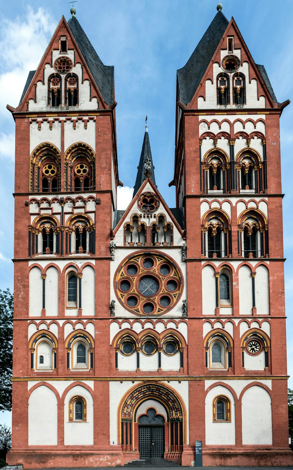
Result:
[[[213,399],[225,395],[231,400],[231,423],[213,423]],[[207,445],[235,445],[235,404],[230,390],[218,385],[208,392],[205,398],[205,443]]]

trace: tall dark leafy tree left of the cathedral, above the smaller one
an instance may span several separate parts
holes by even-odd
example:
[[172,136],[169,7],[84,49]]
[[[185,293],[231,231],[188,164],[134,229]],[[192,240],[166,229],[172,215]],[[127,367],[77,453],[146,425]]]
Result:
[[0,290],[0,411],[11,411],[12,404],[12,320],[13,294]]

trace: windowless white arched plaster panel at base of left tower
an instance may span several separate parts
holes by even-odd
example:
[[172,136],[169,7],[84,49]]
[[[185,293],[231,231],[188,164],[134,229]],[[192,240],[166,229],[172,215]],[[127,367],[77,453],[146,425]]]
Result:
[[41,385],[29,398],[29,446],[57,445],[57,398]]

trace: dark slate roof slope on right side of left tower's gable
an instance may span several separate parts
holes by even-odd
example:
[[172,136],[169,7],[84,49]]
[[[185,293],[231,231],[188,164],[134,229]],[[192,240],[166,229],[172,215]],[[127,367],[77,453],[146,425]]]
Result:
[[101,95],[103,96],[103,100],[109,105],[112,104],[114,67],[103,64],[75,16],[71,16],[68,21],[68,26],[80,52],[83,55],[84,61],[87,64]]

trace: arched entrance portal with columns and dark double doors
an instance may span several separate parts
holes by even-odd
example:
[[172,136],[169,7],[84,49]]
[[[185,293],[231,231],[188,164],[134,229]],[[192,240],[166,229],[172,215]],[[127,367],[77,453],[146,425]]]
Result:
[[186,410],[179,394],[163,383],[140,384],[120,402],[123,452],[143,458],[181,459],[186,436]]

